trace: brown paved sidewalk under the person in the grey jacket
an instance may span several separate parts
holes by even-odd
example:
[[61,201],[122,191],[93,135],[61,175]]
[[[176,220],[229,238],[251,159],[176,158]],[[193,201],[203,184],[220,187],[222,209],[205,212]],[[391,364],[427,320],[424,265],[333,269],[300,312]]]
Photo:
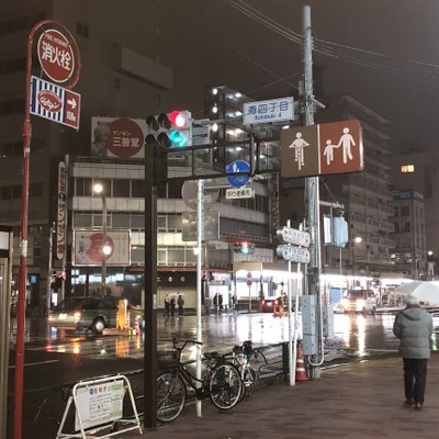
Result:
[[[218,413],[203,402],[157,430],[148,439],[363,439],[437,438],[439,435],[439,353],[428,363],[427,391],[421,412],[405,406],[402,359],[381,358],[322,371],[322,378],[296,383],[283,381],[257,387],[232,412]],[[140,438],[125,434],[122,438]]]

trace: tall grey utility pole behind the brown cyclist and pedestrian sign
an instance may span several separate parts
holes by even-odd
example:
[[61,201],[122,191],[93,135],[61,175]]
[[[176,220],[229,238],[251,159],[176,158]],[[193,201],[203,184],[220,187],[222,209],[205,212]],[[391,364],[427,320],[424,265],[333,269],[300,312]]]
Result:
[[[313,92],[313,36],[311,29],[311,7],[303,8],[303,99],[305,103],[305,125],[314,125],[314,92]],[[317,348],[323,353],[323,329],[322,329],[322,295],[320,295],[320,222],[319,222],[319,188],[318,177],[311,177],[305,182],[305,203],[306,203],[306,228],[309,233],[311,260],[306,273],[307,294],[315,295],[315,322]],[[320,358],[308,358],[309,378],[319,378]]]

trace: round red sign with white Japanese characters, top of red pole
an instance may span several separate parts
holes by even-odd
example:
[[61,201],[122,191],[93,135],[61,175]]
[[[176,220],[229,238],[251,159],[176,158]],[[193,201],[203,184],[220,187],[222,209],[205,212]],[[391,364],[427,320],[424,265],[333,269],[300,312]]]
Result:
[[75,71],[75,53],[68,38],[49,29],[38,40],[38,59],[44,72],[55,82],[66,82]]

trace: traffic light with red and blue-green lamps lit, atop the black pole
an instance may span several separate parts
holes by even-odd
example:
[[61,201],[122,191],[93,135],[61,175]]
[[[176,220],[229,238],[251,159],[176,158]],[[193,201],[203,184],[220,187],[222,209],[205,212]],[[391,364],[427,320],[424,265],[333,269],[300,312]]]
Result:
[[192,145],[192,115],[190,111],[175,110],[170,113],[151,115],[145,120],[148,134],[146,145],[158,144],[166,148]]

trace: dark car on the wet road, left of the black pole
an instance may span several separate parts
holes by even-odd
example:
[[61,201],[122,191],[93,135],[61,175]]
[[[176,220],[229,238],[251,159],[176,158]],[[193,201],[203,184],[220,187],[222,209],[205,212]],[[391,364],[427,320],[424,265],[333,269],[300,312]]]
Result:
[[[117,324],[117,297],[68,297],[54,311],[49,312],[49,325],[65,329],[91,329],[102,334],[104,328],[115,328]],[[135,318],[139,318],[139,327],[144,328],[144,313],[139,307],[128,304],[131,327]]]

